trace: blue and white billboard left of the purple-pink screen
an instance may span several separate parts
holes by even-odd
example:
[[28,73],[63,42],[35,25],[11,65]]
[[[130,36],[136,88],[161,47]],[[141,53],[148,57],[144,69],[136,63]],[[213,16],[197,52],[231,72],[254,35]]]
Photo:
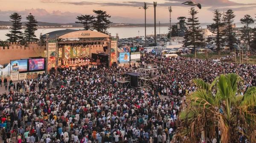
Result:
[[26,72],[28,70],[28,60],[20,59],[11,61],[11,73]]

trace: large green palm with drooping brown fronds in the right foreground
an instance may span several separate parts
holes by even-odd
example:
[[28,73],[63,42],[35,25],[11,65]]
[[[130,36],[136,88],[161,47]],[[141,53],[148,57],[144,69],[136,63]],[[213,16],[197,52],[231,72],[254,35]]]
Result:
[[[243,80],[236,74],[217,77],[211,84],[194,80],[198,90],[188,96],[187,107],[180,112],[175,140],[180,143],[239,143],[243,135],[256,142],[256,87],[241,95]],[[220,135],[218,132],[220,131]]]

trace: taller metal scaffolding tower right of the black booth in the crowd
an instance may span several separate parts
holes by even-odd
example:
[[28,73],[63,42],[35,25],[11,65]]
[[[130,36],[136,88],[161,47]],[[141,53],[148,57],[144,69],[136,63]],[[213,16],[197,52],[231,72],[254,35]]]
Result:
[[140,64],[138,73],[138,89],[150,89],[151,83],[157,79],[157,64]]

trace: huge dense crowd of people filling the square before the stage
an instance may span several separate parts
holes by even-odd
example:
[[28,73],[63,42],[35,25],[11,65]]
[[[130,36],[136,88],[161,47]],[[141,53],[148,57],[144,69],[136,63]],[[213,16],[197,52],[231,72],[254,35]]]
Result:
[[212,82],[222,73],[237,73],[246,81],[242,90],[256,85],[252,64],[146,54],[142,64],[149,63],[158,66],[149,89],[118,84],[119,75],[138,71],[132,66],[60,69],[19,81],[0,95],[3,142],[169,143],[186,94],[196,90],[192,79]]

